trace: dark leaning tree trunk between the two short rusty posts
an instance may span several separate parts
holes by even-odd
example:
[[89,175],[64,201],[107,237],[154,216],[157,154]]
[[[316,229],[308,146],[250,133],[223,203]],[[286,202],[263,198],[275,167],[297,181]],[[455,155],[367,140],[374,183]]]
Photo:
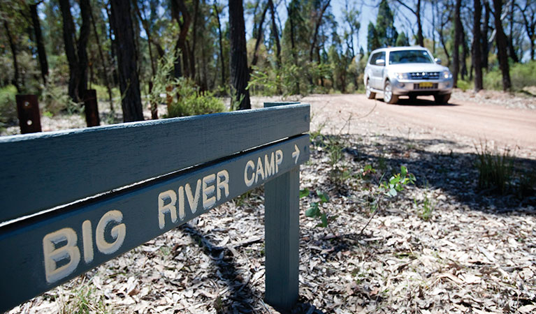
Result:
[[78,57],[75,49],[75,24],[71,15],[71,3],[69,3],[69,0],[59,0],[59,8],[64,22],[65,55],[69,65],[68,95],[75,103],[78,103],[80,101],[80,98],[78,98],[78,84],[80,83],[78,73],[80,71],[78,70]]

